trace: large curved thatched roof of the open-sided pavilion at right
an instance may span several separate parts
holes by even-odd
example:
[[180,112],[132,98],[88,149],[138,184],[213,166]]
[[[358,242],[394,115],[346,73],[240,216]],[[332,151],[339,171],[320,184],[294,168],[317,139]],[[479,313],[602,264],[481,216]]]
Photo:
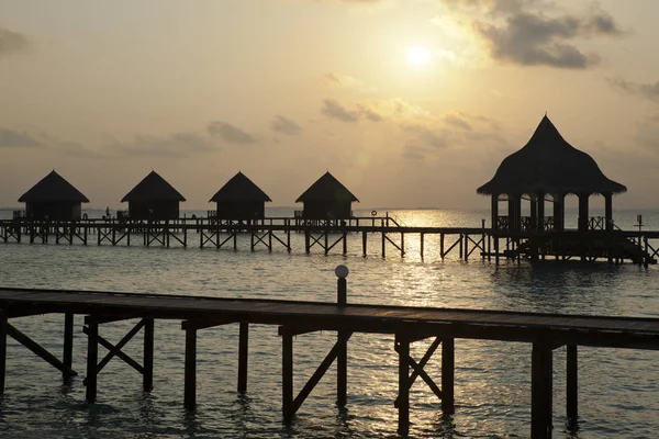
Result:
[[526,146],[507,156],[492,180],[477,190],[480,194],[626,191],[607,179],[591,156],[567,143],[547,115]]

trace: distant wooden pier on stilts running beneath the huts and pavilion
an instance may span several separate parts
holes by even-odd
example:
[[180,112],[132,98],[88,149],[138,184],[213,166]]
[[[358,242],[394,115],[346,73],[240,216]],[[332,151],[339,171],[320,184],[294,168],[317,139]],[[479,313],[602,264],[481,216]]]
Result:
[[[361,254],[368,255],[373,237],[381,257],[388,252],[406,255],[405,238],[418,239],[418,251],[426,254],[426,236],[437,236],[438,255],[442,259],[457,256],[460,260],[471,257],[499,262],[500,259],[520,260],[606,260],[611,263],[632,261],[648,266],[659,256],[659,232],[602,229],[596,217],[592,228],[579,230],[502,230],[481,227],[424,227],[405,226],[392,216],[353,217],[346,221],[306,221],[299,217],[269,217],[258,221],[231,221],[180,218],[163,222],[80,219],[76,222],[29,221],[25,218],[0,221],[0,241],[4,244],[27,241],[30,244],[110,245],[146,247],[188,247],[198,243],[199,248],[238,249],[238,237],[249,237],[252,251],[276,246],[288,252],[293,250],[325,255],[347,255],[348,239],[361,237]],[[291,234],[304,235],[303,249],[295,249]],[[369,239],[370,237],[370,239]],[[300,243],[301,240],[295,240]],[[436,245],[437,245],[436,244]],[[435,251],[437,254],[437,251]]]

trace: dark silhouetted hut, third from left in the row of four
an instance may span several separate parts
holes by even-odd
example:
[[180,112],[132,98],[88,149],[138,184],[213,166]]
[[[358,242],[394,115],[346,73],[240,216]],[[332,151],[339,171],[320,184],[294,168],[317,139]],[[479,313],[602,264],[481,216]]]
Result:
[[272,200],[243,172],[238,172],[209,203],[217,203],[220,219],[263,219],[268,201]]

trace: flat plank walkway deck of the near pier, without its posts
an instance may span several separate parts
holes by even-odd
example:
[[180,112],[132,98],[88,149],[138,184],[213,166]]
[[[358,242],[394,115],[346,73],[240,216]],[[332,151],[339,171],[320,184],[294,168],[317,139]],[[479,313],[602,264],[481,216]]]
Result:
[[[321,325],[391,333],[395,325],[424,330],[450,330],[482,339],[528,340],[538,330],[565,339],[594,340],[606,346],[645,342],[659,349],[659,318],[605,317],[498,312],[490,309],[422,308],[413,306],[347,305],[258,299],[203,297],[85,291],[0,289],[0,307],[35,307],[58,312],[150,316],[155,318],[241,318],[253,323]],[[435,329],[432,329],[435,328]],[[495,333],[495,334],[494,334]],[[656,345],[656,348],[655,348]]]

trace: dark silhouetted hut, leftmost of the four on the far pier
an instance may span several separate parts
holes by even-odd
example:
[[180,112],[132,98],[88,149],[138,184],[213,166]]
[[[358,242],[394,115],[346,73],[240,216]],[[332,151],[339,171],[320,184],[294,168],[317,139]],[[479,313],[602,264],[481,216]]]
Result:
[[53,170],[19,202],[25,203],[25,216],[30,219],[71,221],[80,219],[82,203],[89,200]]

